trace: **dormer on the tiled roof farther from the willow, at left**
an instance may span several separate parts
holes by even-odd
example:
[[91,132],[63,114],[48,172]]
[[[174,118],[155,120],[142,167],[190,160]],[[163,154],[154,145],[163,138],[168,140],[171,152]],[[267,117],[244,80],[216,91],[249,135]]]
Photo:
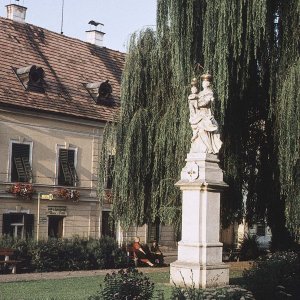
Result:
[[43,68],[30,65],[14,70],[26,91],[38,93],[45,92],[45,72]]

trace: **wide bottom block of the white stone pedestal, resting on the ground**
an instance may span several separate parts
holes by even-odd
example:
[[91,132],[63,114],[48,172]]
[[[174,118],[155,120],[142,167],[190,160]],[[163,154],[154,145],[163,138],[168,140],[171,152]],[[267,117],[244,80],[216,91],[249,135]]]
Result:
[[175,261],[170,265],[170,283],[177,286],[208,288],[229,284],[229,266],[224,263],[200,265]]

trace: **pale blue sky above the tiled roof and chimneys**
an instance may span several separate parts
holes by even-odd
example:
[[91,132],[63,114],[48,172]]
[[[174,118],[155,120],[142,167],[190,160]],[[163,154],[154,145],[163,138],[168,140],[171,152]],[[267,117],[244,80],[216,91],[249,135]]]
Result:
[[[105,47],[126,52],[129,37],[148,26],[155,29],[157,0],[0,0],[0,16],[6,17],[5,5],[16,3],[27,7],[26,22],[86,40],[90,20],[104,24]],[[100,28],[99,28],[100,29]]]

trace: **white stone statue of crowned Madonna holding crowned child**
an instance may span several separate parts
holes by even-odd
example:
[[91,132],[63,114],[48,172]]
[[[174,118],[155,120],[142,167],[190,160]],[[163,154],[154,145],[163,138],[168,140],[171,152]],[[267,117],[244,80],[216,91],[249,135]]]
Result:
[[190,119],[193,130],[190,153],[219,152],[222,142],[218,132],[218,123],[215,120],[211,105],[214,101],[213,91],[210,87],[212,76],[201,76],[203,90],[198,93],[197,79],[192,80],[191,94],[188,97]]

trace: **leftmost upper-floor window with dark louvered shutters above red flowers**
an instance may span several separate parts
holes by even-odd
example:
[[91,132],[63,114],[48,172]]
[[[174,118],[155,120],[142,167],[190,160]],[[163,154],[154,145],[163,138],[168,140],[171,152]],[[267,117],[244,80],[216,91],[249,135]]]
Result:
[[31,182],[30,144],[12,143],[11,146],[11,181]]

